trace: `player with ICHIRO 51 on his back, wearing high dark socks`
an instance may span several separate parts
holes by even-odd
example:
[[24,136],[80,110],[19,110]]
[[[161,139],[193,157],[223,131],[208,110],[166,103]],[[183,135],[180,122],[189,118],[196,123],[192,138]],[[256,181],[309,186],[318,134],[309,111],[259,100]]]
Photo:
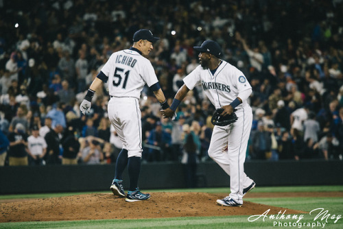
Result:
[[[159,38],[148,29],[140,29],[133,36],[133,46],[113,53],[88,89],[80,110],[84,114],[91,109],[91,99],[95,90],[108,81],[108,118],[123,143],[115,167],[115,179],[110,189],[113,194],[125,197],[127,202],[148,200],[150,194],[141,193],[138,188],[142,156],[142,128],[139,97],[147,84],[160,101],[163,109],[169,108],[165,95],[158,83],[154,68],[147,58],[152,51],[152,43]],[[130,188],[126,195],[122,185],[122,173],[128,165]]]

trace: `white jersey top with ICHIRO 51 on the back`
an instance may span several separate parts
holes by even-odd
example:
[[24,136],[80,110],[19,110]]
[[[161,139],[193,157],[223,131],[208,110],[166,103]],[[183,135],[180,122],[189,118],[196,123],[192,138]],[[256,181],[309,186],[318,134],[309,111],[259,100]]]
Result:
[[145,84],[158,82],[150,60],[131,49],[113,53],[102,72],[108,77],[108,92],[114,97],[139,99]]

